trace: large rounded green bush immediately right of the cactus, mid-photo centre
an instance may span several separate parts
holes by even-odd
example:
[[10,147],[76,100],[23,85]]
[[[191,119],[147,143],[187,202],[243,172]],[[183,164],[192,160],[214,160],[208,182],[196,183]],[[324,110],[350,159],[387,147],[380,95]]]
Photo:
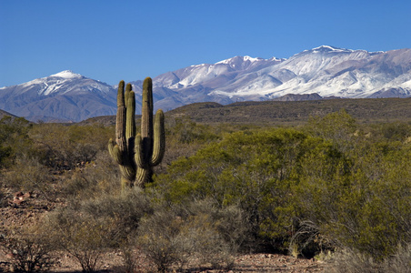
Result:
[[292,191],[306,157],[323,160],[329,173],[343,160],[326,141],[295,129],[236,132],[176,160],[155,187],[172,203],[211,198],[220,207],[238,204],[255,242],[287,248],[297,209],[290,207]]

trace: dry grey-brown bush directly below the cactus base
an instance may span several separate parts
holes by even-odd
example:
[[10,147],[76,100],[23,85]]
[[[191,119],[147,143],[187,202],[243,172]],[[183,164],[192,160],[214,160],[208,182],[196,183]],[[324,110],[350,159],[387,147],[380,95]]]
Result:
[[[79,197],[48,214],[44,226],[59,249],[75,257],[84,271],[94,272],[108,249],[131,249],[140,219],[153,214],[153,207],[139,188],[118,195],[99,191]],[[131,258],[125,256],[129,269]]]

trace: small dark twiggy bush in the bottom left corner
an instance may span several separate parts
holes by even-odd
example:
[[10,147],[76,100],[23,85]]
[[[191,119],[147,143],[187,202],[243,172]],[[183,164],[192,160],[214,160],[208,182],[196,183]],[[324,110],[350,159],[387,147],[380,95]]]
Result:
[[10,256],[11,271],[47,271],[55,265],[53,251],[48,239],[34,228],[9,232],[0,237],[0,248]]

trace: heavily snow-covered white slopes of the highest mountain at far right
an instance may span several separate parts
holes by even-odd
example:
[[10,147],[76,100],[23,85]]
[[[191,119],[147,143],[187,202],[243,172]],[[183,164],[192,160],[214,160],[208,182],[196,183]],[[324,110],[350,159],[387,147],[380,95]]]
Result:
[[[395,80],[404,81],[401,76],[410,70],[410,56],[409,49],[370,53],[322,45],[259,70],[256,78],[240,87],[216,88],[210,96],[236,99],[272,99],[286,94],[309,93],[372,96],[383,86],[398,85]],[[280,72],[287,77],[280,76]],[[272,76],[272,79],[267,79],[267,76]]]

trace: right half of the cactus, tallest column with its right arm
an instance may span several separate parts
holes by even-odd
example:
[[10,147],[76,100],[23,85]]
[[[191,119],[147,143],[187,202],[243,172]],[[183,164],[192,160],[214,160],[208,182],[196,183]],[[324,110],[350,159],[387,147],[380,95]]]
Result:
[[163,110],[155,113],[153,126],[153,82],[146,77],[143,83],[141,109],[141,132],[135,137],[135,163],[137,173],[135,184],[144,186],[151,181],[153,167],[157,166],[165,154],[165,126]]

